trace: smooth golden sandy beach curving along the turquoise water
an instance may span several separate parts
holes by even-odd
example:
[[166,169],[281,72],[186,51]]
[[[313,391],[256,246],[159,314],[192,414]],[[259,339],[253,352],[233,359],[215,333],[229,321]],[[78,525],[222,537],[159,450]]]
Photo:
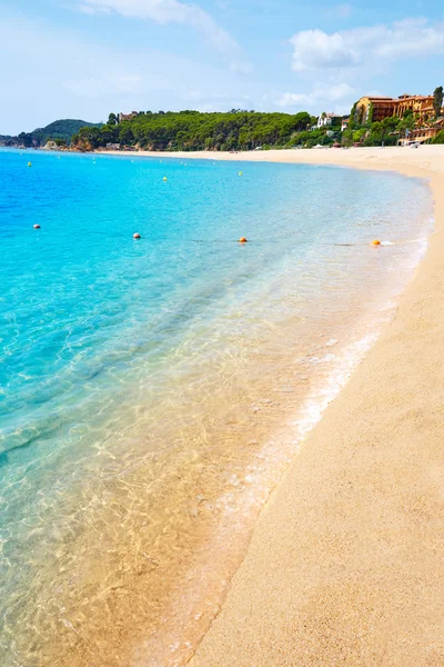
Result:
[[190,665],[443,665],[444,147],[167,155],[397,170],[431,179],[436,218],[396,317],[272,494]]

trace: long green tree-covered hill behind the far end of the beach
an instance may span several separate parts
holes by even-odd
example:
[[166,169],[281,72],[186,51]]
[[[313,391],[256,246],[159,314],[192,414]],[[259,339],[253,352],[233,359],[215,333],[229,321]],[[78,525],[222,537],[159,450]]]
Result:
[[315,121],[305,111],[295,116],[240,110],[148,111],[122,122],[110,113],[103,127],[82,128],[72,137],[72,146],[80,150],[108,143],[148,150],[251,150],[266,145],[285,146],[295,132],[307,130]]

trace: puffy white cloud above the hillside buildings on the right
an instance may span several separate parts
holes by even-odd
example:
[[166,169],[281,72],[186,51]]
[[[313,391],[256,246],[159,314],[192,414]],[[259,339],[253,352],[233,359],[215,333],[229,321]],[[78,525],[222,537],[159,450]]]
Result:
[[332,34],[303,30],[290,42],[293,44],[292,69],[296,72],[373,67],[375,62],[444,53],[444,23],[405,19]]

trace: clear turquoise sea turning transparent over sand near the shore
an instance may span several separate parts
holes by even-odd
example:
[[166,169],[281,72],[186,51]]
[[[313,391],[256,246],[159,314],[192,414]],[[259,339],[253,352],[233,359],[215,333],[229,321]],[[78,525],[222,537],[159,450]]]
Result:
[[186,661],[432,216],[391,172],[0,149],[1,665]]

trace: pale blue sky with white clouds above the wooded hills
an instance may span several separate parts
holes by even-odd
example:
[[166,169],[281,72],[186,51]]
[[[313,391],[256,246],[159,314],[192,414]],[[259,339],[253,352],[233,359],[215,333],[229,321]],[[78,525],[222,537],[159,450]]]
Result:
[[0,135],[60,118],[347,113],[444,84],[442,0],[0,0]]

